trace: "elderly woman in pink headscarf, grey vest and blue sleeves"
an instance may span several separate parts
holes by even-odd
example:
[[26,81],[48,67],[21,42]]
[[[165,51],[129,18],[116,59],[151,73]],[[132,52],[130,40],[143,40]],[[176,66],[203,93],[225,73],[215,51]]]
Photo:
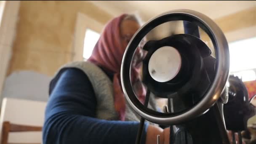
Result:
[[[116,17],[104,28],[88,61],[67,64],[50,83],[45,111],[44,144],[134,144],[139,116],[126,104],[120,85],[123,53],[139,29],[138,20],[128,14]],[[139,50],[139,49],[138,49]],[[143,54],[136,52],[136,60]],[[144,102],[136,61],[132,81]],[[149,107],[156,109],[154,99]],[[169,128],[145,123],[141,144],[169,143]]]

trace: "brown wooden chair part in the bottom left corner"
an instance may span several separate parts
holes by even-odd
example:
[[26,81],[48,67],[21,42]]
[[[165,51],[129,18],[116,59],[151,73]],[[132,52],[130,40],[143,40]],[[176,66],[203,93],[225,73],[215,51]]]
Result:
[[42,127],[11,124],[8,121],[3,122],[1,144],[8,144],[8,135],[10,132],[25,132],[25,131],[42,131]]

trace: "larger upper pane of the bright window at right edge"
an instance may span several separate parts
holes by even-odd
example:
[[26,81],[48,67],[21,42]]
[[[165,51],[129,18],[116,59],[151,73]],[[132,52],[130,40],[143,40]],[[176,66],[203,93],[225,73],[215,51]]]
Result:
[[230,72],[256,68],[256,37],[229,44]]

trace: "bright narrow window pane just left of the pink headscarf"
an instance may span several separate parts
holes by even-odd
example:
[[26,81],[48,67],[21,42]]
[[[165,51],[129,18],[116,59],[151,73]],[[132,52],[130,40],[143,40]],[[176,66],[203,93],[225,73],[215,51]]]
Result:
[[97,41],[99,40],[100,34],[91,30],[87,29],[85,32],[85,40],[83,45],[83,58],[89,59],[91,53],[93,52],[93,48],[96,45]]

